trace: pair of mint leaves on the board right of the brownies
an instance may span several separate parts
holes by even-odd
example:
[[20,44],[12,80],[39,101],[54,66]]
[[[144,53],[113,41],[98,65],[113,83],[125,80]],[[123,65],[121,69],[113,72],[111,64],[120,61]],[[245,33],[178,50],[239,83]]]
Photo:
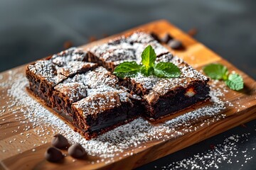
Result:
[[244,82],[239,74],[229,74],[227,67],[222,64],[208,64],[203,67],[203,72],[211,79],[222,79],[232,90],[239,91],[243,89]]

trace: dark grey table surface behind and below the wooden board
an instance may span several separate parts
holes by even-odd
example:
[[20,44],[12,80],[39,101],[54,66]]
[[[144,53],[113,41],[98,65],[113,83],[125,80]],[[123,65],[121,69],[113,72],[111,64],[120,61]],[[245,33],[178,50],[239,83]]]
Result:
[[[164,18],[184,31],[196,28],[198,41],[256,79],[255,9],[253,0],[0,1],[0,72],[64,50],[65,42],[83,45],[92,36],[100,39]],[[250,151],[252,159],[238,154],[236,162],[216,163],[219,169],[256,169],[255,124],[253,120],[139,169],[171,169],[172,162],[207,154],[230,135],[248,132],[236,145],[240,153]]]

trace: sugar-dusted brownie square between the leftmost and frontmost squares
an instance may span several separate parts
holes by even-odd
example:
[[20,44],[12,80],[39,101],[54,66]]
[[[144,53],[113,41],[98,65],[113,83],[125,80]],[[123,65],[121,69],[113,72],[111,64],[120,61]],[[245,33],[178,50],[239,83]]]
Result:
[[90,96],[92,92],[96,91],[95,89],[98,89],[99,93],[100,89],[101,91],[115,91],[117,83],[117,77],[111,75],[103,67],[97,67],[95,70],[83,74],[76,74],[54,87],[51,98],[52,106],[57,111],[73,117],[70,110],[72,103]]

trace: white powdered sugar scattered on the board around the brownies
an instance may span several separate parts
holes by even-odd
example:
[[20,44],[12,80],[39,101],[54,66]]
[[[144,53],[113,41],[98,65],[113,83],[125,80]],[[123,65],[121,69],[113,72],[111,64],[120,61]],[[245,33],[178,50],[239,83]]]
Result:
[[[33,128],[46,129],[53,127],[53,133],[63,134],[71,143],[79,142],[88,154],[102,158],[118,156],[119,152],[124,152],[131,147],[144,147],[143,143],[150,140],[166,140],[170,137],[178,137],[186,132],[195,131],[200,126],[207,125],[208,119],[200,120],[202,116],[213,117],[211,121],[223,118],[225,115],[220,114],[225,109],[226,103],[221,101],[218,96],[223,96],[222,88],[217,85],[211,89],[211,103],[207,106],[198,108],[195,111],[180,115],[172,120],[166,121],[161,125],[153,126],[147,120],[138,118],[126,125],[122,125],[110,132],[107,132],[92,140],[85,140],[78,132],[74,132],[68,125],[60,120],[53,113],[41,106],[26,91],[28,80],[23,74],[10,74],[8,84],[11,88],[8,90],[9,96],[13,99],[9,105],[20,106],[18,112],[22,112],[27,121],[33,124]],[[217,84],[215,82],[215,84]],[[24,108],[23,106],[26,106]],[[200,123],[198,123],[198,121]],[[198,123],[195,126],[191,123]],[[44,132],[44,130],[42,130]],[[44,132],[46,133],[46,132]],[[44,134],[43,133],[43,134]],[[134,154],[128,152],[124,156]]]

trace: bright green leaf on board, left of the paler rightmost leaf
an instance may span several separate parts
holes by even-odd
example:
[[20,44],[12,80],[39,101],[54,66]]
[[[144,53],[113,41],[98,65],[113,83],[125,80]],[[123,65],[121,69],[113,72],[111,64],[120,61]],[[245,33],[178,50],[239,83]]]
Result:
[[208,64],[203,67],[203,72],[211,79],[228,79],[228,69],[222,64]]

